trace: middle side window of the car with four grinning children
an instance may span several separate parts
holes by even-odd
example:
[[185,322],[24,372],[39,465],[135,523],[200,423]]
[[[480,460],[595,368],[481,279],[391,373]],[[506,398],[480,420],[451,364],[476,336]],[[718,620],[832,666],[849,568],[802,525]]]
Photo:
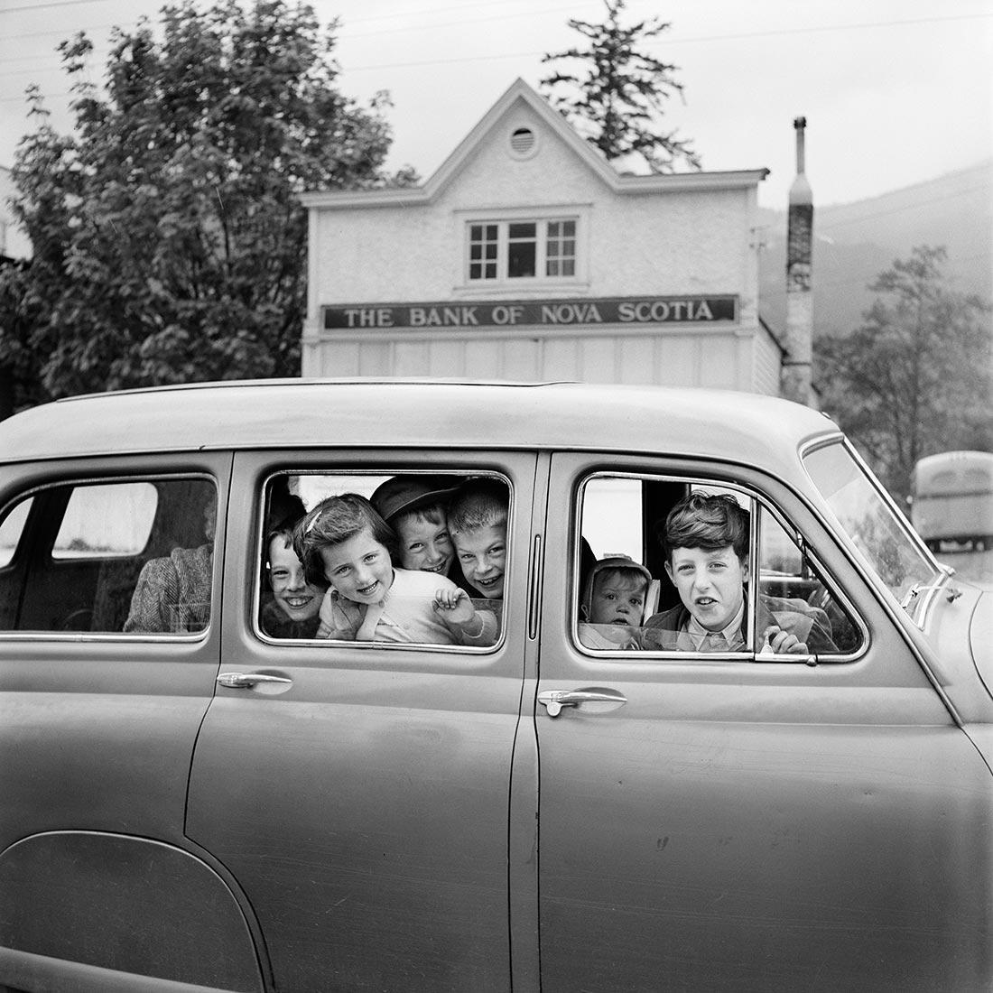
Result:
[[285,473],[263,505],[262,636],[497,644],[512,511],[503,477]]

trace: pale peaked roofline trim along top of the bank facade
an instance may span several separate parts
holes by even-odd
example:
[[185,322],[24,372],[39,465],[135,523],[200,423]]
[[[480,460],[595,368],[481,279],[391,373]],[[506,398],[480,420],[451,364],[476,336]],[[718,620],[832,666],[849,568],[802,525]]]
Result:
[[409,207],[430,204],[453,182],[473,152],[517,102],[525,104],[537,114],[548,129],[561,138],[587,168],[618,195],[742,189],[755,186],[769,175],[768,169],[746,169],[720,173],[622,176],[590,142],[580,137],[565,117],[554,110],[544,97],[518,78],[423,185],[388,190],[316,191],[305,193],[300,199],[305,207]]

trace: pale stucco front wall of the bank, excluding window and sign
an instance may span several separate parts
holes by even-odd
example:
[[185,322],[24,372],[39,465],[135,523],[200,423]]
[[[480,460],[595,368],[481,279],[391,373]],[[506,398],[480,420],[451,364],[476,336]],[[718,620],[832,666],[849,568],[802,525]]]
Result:
[[[519,127],[538,139],[535,154],[523,160],[509,151],[509,135]],[[463,155],[429,204],[312,208],[303,373],[575,378],[776,392],[777,356],[758,321],[755,204],[751,186],[619,193],[526,101],[517,101]],[[469,221],[542,212],[578,216],[577,278],[468,282]],[[708,294],[735,294],[738,321],[321,327],[322,306]]]

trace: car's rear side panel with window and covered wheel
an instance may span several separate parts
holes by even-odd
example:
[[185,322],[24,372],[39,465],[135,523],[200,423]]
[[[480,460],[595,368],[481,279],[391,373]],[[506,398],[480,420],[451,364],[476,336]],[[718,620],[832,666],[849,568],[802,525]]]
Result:
[[[0,466],[0,984],[261,989],[244,909],[183,833],[230,463]],[[195,597],[159,596],[174,562],[199,564]]]

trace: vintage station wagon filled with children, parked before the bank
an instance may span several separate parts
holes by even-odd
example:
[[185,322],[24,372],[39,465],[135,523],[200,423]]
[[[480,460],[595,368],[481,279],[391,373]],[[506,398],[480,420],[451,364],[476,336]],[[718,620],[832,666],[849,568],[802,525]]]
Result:
[[[502,501],[502,595],[471,597],[498,634],[317,638],[313,572],[311,628],[266,620],[300,514],[425,474]],[[693,494],[748,521],[725,650],[642,638]],[[643,613],[593,638],[584,584],[622,556]],[[775,648],[773,598],[828,637]],[[0,985],[990,989],[990,607],[776,398],[293,380],[18,414]]]

